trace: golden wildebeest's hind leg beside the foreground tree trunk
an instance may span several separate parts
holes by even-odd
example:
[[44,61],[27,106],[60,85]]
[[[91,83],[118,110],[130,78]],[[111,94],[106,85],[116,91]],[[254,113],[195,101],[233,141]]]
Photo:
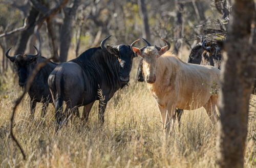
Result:
[[218,119],[217,112],[216,112],[217,101],[218,101],[217,97],[212,95],[208,100],[208,102],[203,106],[212,124],[215,124],[216,120]]

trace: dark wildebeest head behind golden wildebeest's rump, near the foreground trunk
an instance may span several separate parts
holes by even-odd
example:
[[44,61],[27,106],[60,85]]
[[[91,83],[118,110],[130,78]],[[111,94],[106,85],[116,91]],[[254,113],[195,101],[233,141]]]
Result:
[[220,69],[221,65],[221,49],[216,43],[210,43],[206,47],[206,40],[202,43],[202,48],[204,49],[202,53],[201,65],[211,65]]

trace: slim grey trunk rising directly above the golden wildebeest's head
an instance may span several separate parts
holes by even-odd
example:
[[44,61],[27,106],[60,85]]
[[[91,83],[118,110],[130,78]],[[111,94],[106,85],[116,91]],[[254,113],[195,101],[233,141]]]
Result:
[[148,24],[148,17],[147,17],[147,10],[146,10],[145,0],[138,0],[138,6],[139,6],[140,18],[143,21],[142,36],[144,38],[146,38],[148,41],[151,41],[150,25]]

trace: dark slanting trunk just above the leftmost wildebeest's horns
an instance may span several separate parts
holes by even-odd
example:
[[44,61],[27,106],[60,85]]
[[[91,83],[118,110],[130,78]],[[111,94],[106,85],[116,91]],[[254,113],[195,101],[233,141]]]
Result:
[[35,21],[36,18],[38,16],[39,12],[32,7],[30,12],[29,12],[29,16],[28,16],[28,27],[26,30],[24,30],[18,40],[18,48],[15,51],[15,54],[20,54],[20,53],[24,53],[29,37],[34,33],[34,28],[35,28]]

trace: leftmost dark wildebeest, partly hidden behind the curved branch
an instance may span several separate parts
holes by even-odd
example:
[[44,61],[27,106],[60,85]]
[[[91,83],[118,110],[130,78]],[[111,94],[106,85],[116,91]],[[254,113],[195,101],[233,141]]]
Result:
[[[36,49],[36,54],[17,54],[10,56],[9,51],[11,48],[5,53],[6,57],[15,64],[18,74],[18,85],[23,88],[26,86],[27,79],[30,77],[37,64],[46,61],[46,58],[40,55],[40,51],[35,46],[34,48]],[[56,63],[48,62],[38,71],[31,83],[31,87],[28,91],[30,97],[31,118],[34,117],[37,102],[43,103],[41,111],[42,118],[45,117],[49,103],[52,103],[52,97],[47,81],[49,74],[57,65],[58,64]]]

